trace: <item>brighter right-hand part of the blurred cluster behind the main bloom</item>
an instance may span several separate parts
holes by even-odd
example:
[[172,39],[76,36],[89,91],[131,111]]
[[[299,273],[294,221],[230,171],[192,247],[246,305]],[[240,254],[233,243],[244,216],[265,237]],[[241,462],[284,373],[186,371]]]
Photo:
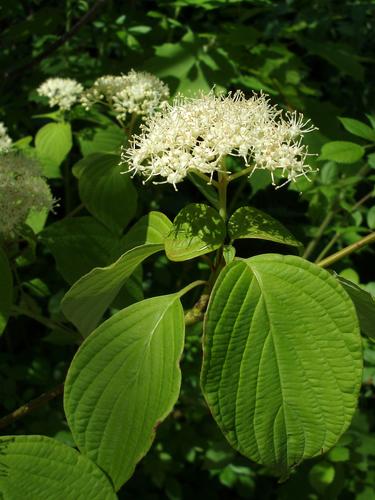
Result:
[[165,83],[150,73],[130,71],[124,76],[124,88],[113,96],[113,106],[120,119],[126,115],[151,115],[169,97]]

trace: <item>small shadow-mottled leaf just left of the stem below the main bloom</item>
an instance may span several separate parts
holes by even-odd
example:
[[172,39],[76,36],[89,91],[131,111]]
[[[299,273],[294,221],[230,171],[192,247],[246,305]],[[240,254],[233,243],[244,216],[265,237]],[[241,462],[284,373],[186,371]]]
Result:
[[225,239],[225,224],[217,210],[203,203],[183,208],[165,240],[165,253],[173,261],[189,260],[213,252]]

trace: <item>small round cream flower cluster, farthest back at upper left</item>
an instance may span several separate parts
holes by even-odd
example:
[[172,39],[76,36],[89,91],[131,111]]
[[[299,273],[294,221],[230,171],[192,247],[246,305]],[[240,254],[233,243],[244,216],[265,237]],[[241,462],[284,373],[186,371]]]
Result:
[[72,78],[49,78],[37,88],[39,95],[48,98],[51,108],[58,106],[62,111],[68,111],[83,92],[80,83]]

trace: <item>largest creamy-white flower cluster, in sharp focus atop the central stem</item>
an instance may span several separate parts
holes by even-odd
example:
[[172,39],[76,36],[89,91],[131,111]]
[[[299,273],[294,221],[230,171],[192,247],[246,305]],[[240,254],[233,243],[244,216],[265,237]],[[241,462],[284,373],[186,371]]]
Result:
[[269,170],[273,183],[276,171],[291,181],[312,170],[301,143],[312,130],[302,115],[283,116],[262,94],[178,97],[147,121],[123,150],[121,164],[146,180],[159,176],[176,188],[190,170],[212,179],[231,155],[243,158],[245,167]]

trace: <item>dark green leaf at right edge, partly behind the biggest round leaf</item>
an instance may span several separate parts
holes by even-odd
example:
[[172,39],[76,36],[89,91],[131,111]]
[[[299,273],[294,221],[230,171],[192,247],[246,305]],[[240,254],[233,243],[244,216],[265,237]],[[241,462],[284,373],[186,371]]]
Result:
[[368,337],[375,340],[375,299],[352,281],[336,276],[349,297],[352,299],[361,331]]

